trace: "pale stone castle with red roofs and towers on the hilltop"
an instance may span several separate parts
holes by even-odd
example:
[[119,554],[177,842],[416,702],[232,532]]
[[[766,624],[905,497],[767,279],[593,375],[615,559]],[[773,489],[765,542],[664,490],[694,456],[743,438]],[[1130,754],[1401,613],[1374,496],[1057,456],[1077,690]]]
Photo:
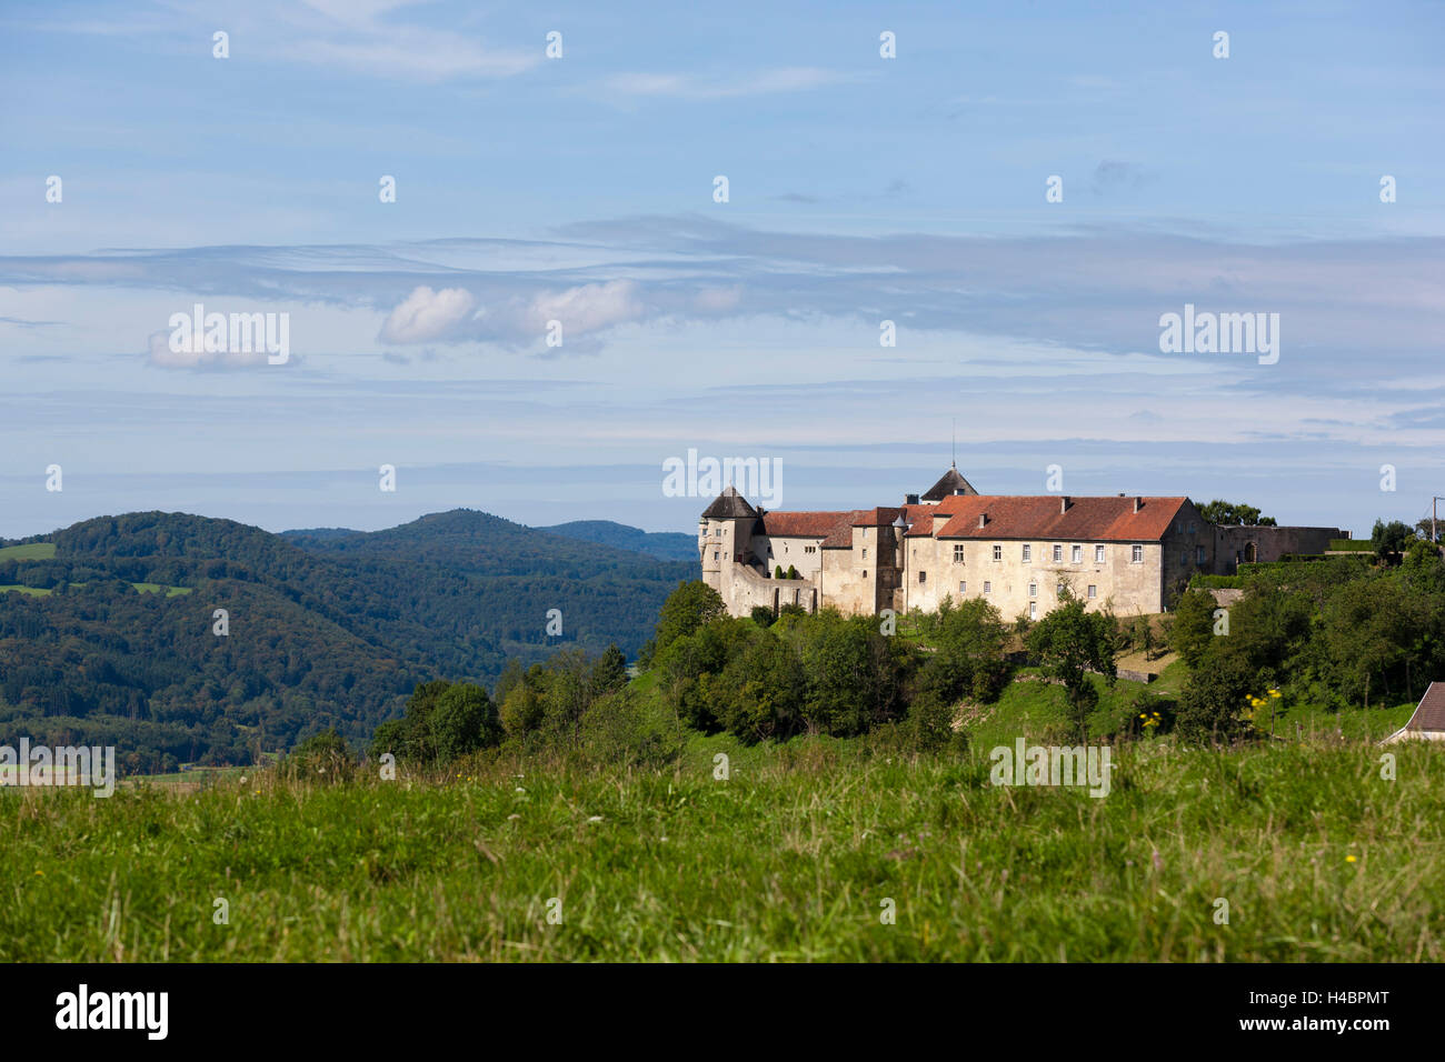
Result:
[[945,597],[981,597],[1006,618],[1038,618],[1065,588],[1091,610],[1160,613],[1195,572],[1233,575],[1240,562],[1322,553],[1341,538],[1338,527],[1217,526],[1188,497],[980,494],[957,465],[902,506],[769,511],[730,485],[698,520],[702,581],[733,616],[789,604],[933,611]]

